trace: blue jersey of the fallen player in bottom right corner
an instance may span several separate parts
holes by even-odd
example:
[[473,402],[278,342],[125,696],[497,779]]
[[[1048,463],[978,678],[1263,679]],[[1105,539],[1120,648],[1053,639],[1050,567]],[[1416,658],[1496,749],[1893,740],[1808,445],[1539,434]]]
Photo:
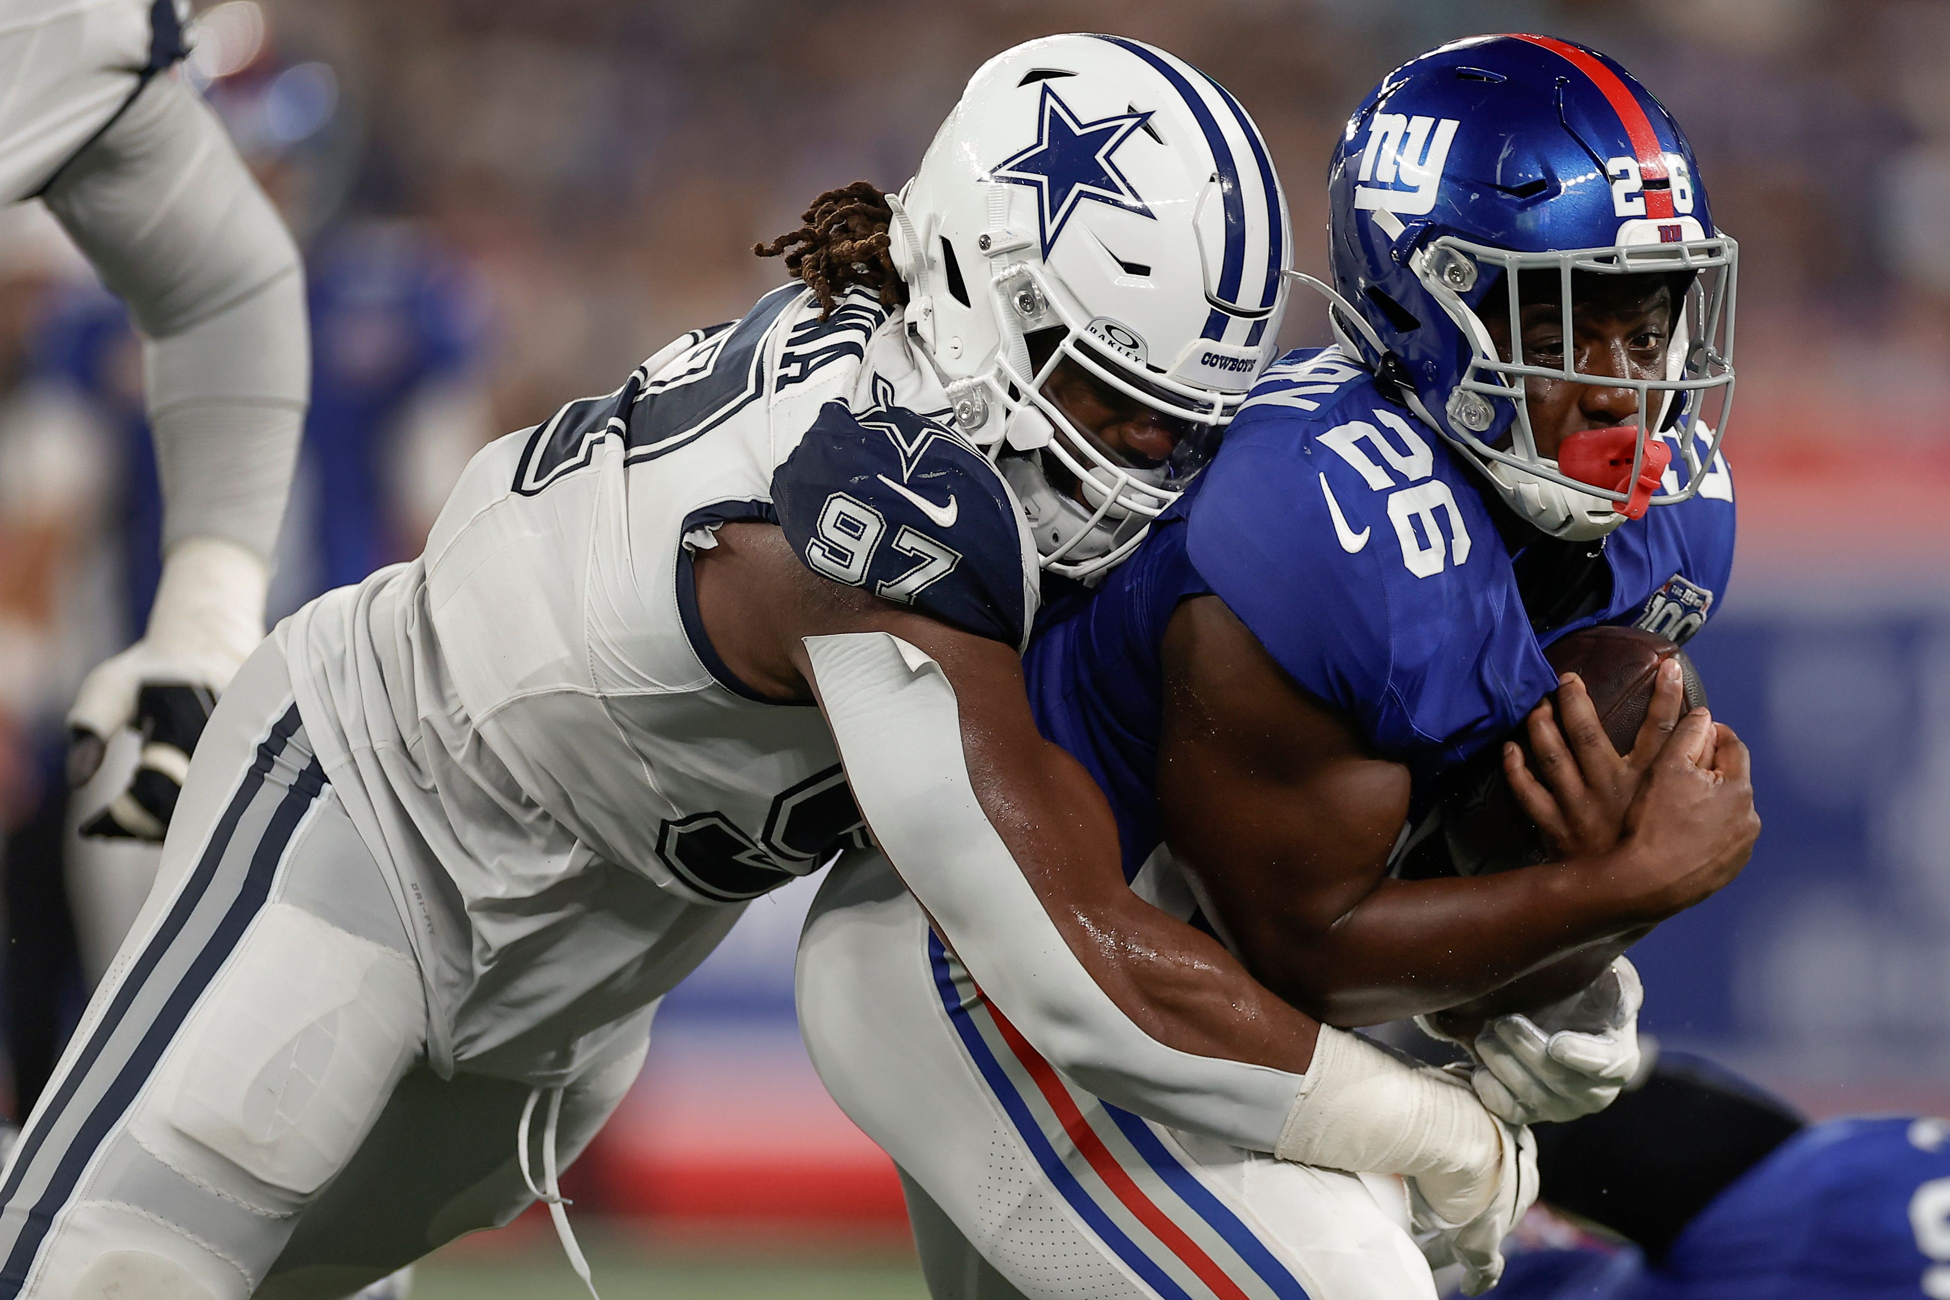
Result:
[[1950,1123],[1812,1125],[1706,1204],[1665,1263],[1513,1255],[1498,1300],[1923,1300],[1950,1294]]

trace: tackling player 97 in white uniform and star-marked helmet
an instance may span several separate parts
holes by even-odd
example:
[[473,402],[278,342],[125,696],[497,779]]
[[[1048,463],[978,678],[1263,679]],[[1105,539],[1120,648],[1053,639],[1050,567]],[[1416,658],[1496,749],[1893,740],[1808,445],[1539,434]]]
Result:
[[[1521,1212],[1525,1130],[1316,1052],[1141,902],[1024,696],[1039,548],[1129,550],[1271,355],[1258,131],[1168,55],[1053,37],[975,74],[909,201],[821,195],[768,249],[800,283],[482,450],[419,559],[246,663],[0,1181],[0,1296],[343,1294],[536,1197],[587,1281],[556,1173],[657,1000],[868,826],[1098,1093],[1412,1175],[1476,1236]],[[1057,468],[1074,495],[1018,507]]]

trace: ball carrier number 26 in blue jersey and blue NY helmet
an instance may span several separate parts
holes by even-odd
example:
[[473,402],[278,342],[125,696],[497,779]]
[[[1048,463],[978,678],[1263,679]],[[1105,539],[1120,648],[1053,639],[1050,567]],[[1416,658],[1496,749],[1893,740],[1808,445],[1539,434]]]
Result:
[[[1681,719],[1675,672],[1620,758],[1542,653],[1593,624],[1685,637],[1726,589],[1702,415],[1724,431],[1734,242],[1658,101],[1546,37],[1392,72],[1330,189],[1342,343],[1273,366],[1137,554],[1045,612],[1032,706],[1110,795],[1137,891],[1330,1025],[1453,1013],[1494,1109],[1564,1119],[1636,1064],[1617,953],[1757,834],[1743,746]],[[1554,690],[1568,739],[1548,709],[1531,727],[1550,787],[1505,768],[1560,860],[1390,877],[1439,830],[1433,778]],[[901,1166],[938,1296],[1433,1294],[1373,1181],[1141,1119],[985,992],[868,856],[827,883],[801,1029]],[[1531,1015],[1478,1035],[1488,1010]],[[1314,1060],[1359,1041],[1322,1029]],[[1494,1281],[1494,1240],[1443,1251]]]

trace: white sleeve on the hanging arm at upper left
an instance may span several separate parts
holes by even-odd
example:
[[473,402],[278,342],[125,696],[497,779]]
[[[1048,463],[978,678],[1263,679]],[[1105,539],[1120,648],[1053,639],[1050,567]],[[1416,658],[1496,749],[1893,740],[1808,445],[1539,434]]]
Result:
[[310,396],[298,248],[216,115],[154,78],[62,172],[47,207],[144,333],[164,546],[269,557]]

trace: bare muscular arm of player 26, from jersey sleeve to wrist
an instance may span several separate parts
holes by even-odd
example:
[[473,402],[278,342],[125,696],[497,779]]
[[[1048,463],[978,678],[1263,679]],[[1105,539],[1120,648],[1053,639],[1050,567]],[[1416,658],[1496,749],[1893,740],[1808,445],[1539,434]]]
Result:
[[[1408,770],[1299,690],[1217,596],[1178,606],[1164,680],[1166,840],[1246,969],[1326,1023],[1478,1000],[1585,945],[1601,971],[1597,947],[1648,920],[1591,863],[1388,879]],[[1550,1000],[1548,984],[1529,992]]]

